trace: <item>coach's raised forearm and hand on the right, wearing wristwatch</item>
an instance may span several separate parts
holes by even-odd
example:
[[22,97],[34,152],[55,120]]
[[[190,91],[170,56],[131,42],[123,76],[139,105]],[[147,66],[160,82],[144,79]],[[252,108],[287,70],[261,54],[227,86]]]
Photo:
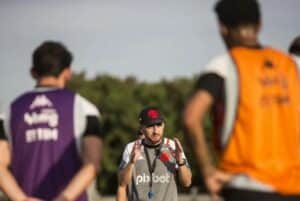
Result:
[[189,187],[192,183],[192,172],[187,166],[187,161],[183,158],[183,148],[177,138],[174,138],[175,142],[175,157],[178,165],[178,177],[182,186]]

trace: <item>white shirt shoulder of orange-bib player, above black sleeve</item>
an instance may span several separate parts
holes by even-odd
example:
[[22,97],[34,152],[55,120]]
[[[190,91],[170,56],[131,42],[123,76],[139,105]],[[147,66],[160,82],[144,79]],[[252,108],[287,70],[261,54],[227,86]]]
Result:
[[227,72],[227,67],[232,64],[232,59],[229,53],[224,53],[215,56],[210,60],[210,62],[204,67],[201,74],[214,73],[220,77],[225,77]]

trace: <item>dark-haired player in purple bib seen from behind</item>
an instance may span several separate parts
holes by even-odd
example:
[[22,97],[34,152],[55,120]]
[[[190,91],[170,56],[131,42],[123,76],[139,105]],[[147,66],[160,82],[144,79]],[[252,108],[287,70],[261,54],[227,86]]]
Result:
[[101,159],[99,111],[64,89],[71,62],[59,42],[33,52],[36,88],[11,103],[1,131],[0,186],[10,200],[87,200]]

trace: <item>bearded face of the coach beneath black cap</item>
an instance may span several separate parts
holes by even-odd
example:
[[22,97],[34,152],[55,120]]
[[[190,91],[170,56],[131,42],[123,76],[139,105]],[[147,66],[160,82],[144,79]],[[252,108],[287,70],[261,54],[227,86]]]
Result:
[[151,126],[143,126],[142,132],[149,142],[151,142],[153,145],[156,145],[161,142],[164,133],[164,128],[164,123],[157,123]]

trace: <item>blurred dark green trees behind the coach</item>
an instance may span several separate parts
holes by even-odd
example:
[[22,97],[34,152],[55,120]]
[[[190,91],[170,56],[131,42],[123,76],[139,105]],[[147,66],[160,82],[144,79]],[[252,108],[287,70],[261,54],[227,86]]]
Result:
[[[101,194],[115,194],[117,171],[125,145],[136,138],[138,114],[146,106],[158,107],[166,119],[165,137],[181,140],[193,172],[193,185],[203,190],[199,169],[193,160],[188,139],[184,135],[182,110],[191,95],[195,78],[139,82],[135,77],[125,79],[97,75],[87,79],[85,73],[73,75],[68,88],[80,93],[101,112],[104,138],[102,170],[98,176]],[[210,121],[206,121],[209,129]],[[188,189],[179,189],[181,192]]]

